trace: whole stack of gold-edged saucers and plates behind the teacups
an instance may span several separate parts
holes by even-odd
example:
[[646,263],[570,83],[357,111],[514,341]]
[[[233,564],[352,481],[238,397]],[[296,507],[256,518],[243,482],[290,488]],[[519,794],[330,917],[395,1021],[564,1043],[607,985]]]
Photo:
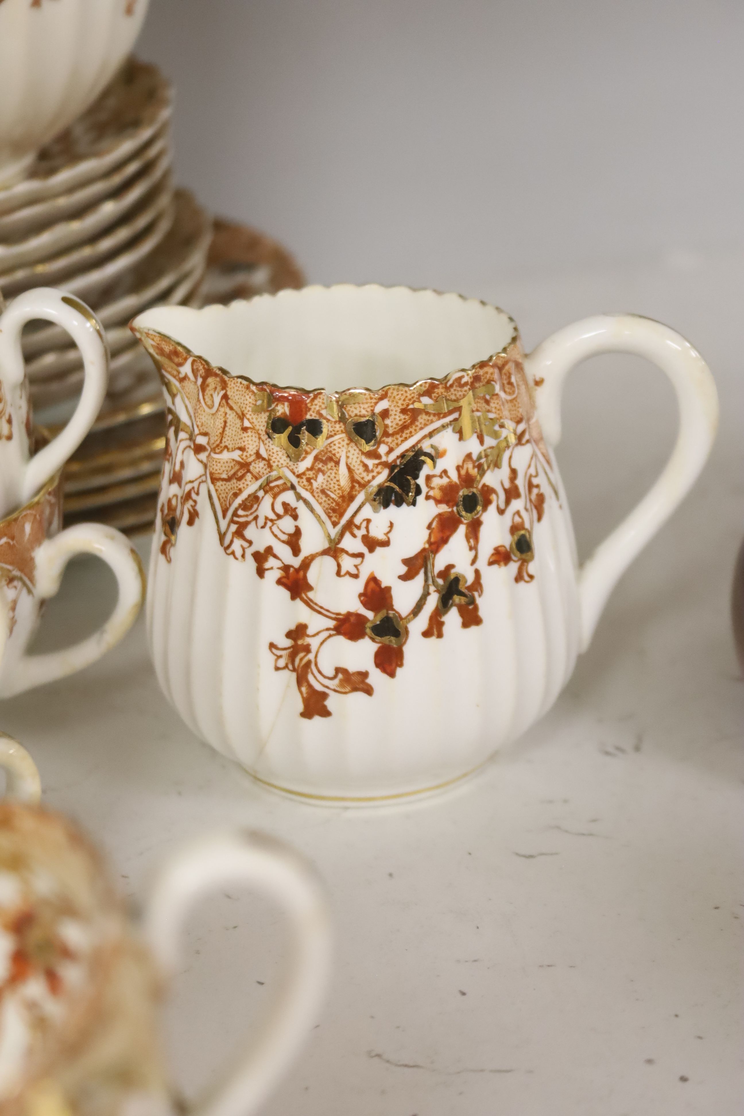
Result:
[[[203,305],[301,286],[293,260],[254,230],[216,222],[172,177],[171,86],[129,59],[98,99],[0,189],[0,292],[59,287],[90,306],[110,349],[96,426],[65,471],[66,522],[152,526],[165,444],[149,357],[128,329],[148,306]],[[209,261],[207,261],[209,257]],[[58,326],[23,335],[37,425],[54,432],[83,385],[79,349]]]

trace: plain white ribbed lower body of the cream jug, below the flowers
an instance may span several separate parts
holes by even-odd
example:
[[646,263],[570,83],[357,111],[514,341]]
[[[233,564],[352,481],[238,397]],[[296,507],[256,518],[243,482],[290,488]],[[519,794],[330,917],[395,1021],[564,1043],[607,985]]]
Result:
[[[454,455],[452,435],[437,444]],[[445,459],[446,460],[446,459]],[[220,546],[206,492],[195,525],[178,535],[168,564],[153,548],[147,598],[151,653],[160,684],[202,740],[252,775],[303,795],[367,798],[438,787],[482,764],[519,737],[554,702],[573,670],[579,615],[571,523],[552,496],[534,529],[534,580],[516,584],[513,569],[486,567],[479,627],[464,629],[447,616],[442,639],[412,631],[404,666],[389,679],[370,670],[375,693],[332,695],[330,718],[306,720],[293,679],[274,670],[270,643],[312,617],[270,577],[260,580],[249,559],[236,562]],[[299,526],[317,525],[299,508]],[[352,609],[367,570],[396,588],[400,557],[426,535],[431,506],[389,512],[396,547],[368,556],[359,580],[335,577],[319,560],[315,581],[341,584],[332,594]],[[400,540],[409,538],[409,546]],[[259,546],[270,540],[261,538]],[[486,512],[482,548],[509,546],[508,525]],[[447,561],[468,569],[463,538]],[[399,583],[398,583],[399,585]],[[408,588],[410,603],[416,594]],[[402,595],[403,596],[403,595]],[[397,603],[397,597],[396,597]],[[369,668],[368,648],[342,639],[328,647],[329,673],[338,665]]]

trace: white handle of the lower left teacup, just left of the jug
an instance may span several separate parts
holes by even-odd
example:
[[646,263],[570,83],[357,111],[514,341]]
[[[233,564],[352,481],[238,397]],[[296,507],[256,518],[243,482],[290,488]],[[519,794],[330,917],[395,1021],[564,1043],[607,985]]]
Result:
[[7,675],[0,671],[0,698],[11,698],[81,671],[110,651],[134,624],[145,598],[145,571],[129,540],[103,523],[77,523],[45,539],[35,555],[37,596],[45,600],[54,597],[68,561],[83,554],[102,558],[114,571],[118,585],[114,612],[97,632],[71,647],[41,655],[23,651]]

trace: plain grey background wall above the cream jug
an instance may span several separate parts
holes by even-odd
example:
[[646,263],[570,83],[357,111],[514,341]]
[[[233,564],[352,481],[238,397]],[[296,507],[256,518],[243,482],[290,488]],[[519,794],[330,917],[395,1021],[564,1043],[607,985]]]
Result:
[[744,239],[741,0],[152,0],[177,167],[320,282],[506,279]]

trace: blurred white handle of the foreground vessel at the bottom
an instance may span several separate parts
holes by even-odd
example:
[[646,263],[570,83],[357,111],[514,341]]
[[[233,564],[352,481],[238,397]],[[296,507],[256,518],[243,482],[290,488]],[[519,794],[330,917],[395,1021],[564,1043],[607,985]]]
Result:
[[330,972],[328,906],[312,868],[264,834],[233,831],[186,846],[156,881],[144,929],[166,977],[178,965],[192,908],[231,884],[248,884],[280,904],[292,931],[291,958],[261,1038],[226,1081],[196,1105],[199,1116],[251,1116],[263,1104],[315,1023]]

